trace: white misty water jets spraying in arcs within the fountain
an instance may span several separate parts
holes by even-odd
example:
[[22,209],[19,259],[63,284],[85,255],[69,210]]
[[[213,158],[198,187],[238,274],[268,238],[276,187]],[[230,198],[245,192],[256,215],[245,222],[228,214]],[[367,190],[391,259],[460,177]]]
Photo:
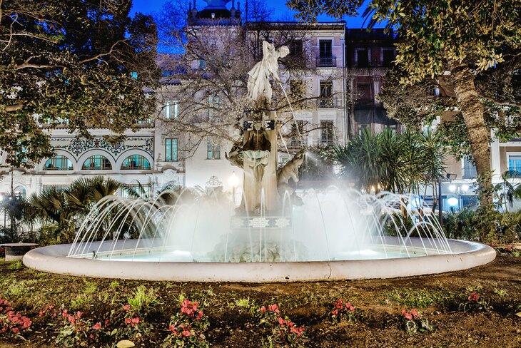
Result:
[[[393,193],[368,195],[335,187],[306,190],[301,194],[303,205],[291,204],[289,195],[284,195],[276,216],[262,209],[255,216],[236,214],[224,195],[200,194],[191,202],[175,203],[165,195],[173,193],[153,201],[104,198],[81,225],[69,257],[284,262],[450,253],[435,216],[407,209],[408,198]],[[410,237],[419,237],[420,244]]]

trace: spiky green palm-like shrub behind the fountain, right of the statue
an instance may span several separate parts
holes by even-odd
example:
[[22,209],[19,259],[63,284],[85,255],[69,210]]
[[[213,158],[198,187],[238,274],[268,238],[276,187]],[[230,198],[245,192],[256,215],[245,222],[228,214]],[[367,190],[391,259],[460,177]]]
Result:
[[346,145],[334,145],[326,158],[340,165],[340,178],[368,192],[416,193],[420,185],[444,178],[445,143],[434,131],[371,133],[365,129]]

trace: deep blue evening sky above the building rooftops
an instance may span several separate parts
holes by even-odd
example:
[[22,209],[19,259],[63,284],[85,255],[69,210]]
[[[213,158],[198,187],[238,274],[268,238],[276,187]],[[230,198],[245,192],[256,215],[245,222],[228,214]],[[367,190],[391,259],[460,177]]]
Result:
[[[185,1],[188,4],[189,0],[179,1]],[[242,10],[244,10],[244,1],[245,0],[241,1]],[[161,7],[165,2],[166,0],[133,0],[132,13],[142,12],[143,14],[151,14],[153,12],[158,12],[161,10]],[[265,0],[265,2],[268,6],[272,7],[275,10],[273,14],[273,20],[288,19],[289,16],[293,15],[293,12],[285,6],[285,0]],[[366,1],[366,3],[368,3],[368,1]],[[197,0],[198,9],[202,9],[204,6],[206,6],[205,1]],[[230,5],[228,4],[228,6]],[[363,9],[365,9],[365,4],[360,12],[362,12]],[[360,17],[361,16],[345,18],[345,20],[348,22],[348,28],[361,28],[363,24],[363,19]],[[318,20],[335,21],[335,19],[332,19],[328,16],[320,16]]]

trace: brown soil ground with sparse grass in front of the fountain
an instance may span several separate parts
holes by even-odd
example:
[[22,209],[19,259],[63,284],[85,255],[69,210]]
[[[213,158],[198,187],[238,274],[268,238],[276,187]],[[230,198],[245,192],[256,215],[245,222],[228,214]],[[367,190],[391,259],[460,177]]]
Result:
[[[498,256],[488,265],[442,275],[290,284],[84,279],[0,262],[1,297],[34,318],[31,331],[23,335],[26,341],[0,333],[0,348],[54,347],[56,332],[38,317],[46,305],[63,304],[97,321],[125,305],[140,285],[156,295],[143,314],[155,329],[136,342],[141,347],[158,347],[163,341],[180,294],[204,305],[211,347],[266,345],[268,332],[260,326],[255,310],[273,303],[281,314],[305,327],[303,347],[521,347],[521,317],[516,315],[521,312],[521,257]],[[463,312],[459,305],[468,301],[475,287],[487,309]],[[331,321],[332,303],[339,298],[363,310],[360,320]],[[413,308],[428,319],[433,331],[405,332],[401,313]],[[113,344],[105,340],[88,346]]]

